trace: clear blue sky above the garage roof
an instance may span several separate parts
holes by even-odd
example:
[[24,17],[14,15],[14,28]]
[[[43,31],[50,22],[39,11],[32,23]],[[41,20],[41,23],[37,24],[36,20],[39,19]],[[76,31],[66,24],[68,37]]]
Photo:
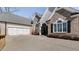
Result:
[[46,10],[46,7],[17,7],[17,10],[13,14],[20,15],[23,17],[30,18],[35,12],[43,14]]

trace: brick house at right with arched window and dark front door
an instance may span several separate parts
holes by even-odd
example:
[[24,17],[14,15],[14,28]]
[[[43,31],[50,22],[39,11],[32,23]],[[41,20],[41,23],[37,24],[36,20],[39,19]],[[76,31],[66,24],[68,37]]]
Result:
[[[50,11],[50,9],[52,11]],[[40,19],[40,35],[67,33],[79,35],[79,11],[71,7],[49,7]],[[45,19],[45,20],[44,20]]]

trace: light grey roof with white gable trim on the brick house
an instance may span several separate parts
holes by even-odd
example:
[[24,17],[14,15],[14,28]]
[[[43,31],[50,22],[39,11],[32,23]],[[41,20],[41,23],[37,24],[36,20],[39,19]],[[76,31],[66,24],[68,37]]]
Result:
[[44,12],[43,16],[40,19],[40,22],[45,22],[51,19],[51,17],[55,14],[56,11],[60,11],[61,9],[65,9],[69,11],[71,14],[79,14],[79,10],[76,10],[72,7],[48,7]]

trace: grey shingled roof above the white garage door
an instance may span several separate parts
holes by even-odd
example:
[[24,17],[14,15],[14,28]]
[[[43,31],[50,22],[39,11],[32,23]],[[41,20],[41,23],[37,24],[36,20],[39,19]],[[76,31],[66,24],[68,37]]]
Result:
[[22,25],[31,25],[31,21],[28,18],[18,16],[18,15],[12,14],[12,13],[1,13],[0,21],[22,24]]

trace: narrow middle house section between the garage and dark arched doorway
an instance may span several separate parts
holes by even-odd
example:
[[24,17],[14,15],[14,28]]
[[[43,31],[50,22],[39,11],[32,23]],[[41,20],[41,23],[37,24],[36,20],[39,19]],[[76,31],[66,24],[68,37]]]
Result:
[[33,28],[32,32],[33,33],[39,34],[39,25],[40,25],[39,21],[40,21],[41,17],[42,17],[42,15],[39,13],[33,14],[33,18],[32,18],[32,28]]

